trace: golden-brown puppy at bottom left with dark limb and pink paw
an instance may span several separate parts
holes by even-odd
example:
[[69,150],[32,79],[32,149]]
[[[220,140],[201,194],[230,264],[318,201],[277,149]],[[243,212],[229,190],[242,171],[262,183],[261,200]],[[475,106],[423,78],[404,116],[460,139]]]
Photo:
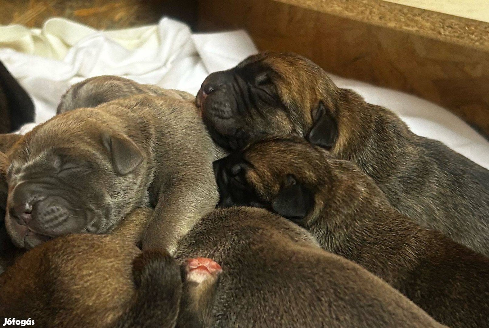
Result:
[[166,251],[141,252],[133,232],[72,234],[28,251],[0,276],[0,316],[40,327],[204,327],[207,309],[182,306],[213,295],[219,264],[190,259],[182,270]]

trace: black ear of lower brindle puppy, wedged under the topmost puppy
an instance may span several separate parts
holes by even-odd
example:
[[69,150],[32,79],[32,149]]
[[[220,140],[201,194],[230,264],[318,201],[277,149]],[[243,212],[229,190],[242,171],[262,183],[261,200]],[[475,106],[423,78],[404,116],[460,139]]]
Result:
[[295,182],[289,176],[285,186],[272,201],[272,209],[291,220],[301,220],[314,208],[314,195],[311,190]]

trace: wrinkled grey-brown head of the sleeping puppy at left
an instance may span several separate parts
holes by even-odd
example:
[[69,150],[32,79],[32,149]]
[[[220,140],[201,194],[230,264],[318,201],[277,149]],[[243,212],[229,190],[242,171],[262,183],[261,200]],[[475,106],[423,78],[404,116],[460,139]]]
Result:
[[65,113],[36,127],[12,149],[9,162],[5,226],[18,247],[64,234],[105,233],[147,194],[144,154],[96,110]]

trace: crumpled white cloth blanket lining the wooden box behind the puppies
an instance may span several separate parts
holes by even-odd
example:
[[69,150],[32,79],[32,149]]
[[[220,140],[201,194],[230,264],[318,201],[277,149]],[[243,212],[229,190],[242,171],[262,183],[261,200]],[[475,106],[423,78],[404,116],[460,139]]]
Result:
[[[42,29],[0,26],[0,60],[33,98],[36,121],[55,114],[73,83],[103,74],[196,94],[204,78],[226,70],[257,49],[244,31],[192,34],[183,23],[163,18],[157,25],[97,31],[53,18]],[[489,142],[445,109],[420,98],[332,76],[342,88],[395,111],[414,133],[440,140],[489,169]],[[25,133],[33,124],[24,126]]]

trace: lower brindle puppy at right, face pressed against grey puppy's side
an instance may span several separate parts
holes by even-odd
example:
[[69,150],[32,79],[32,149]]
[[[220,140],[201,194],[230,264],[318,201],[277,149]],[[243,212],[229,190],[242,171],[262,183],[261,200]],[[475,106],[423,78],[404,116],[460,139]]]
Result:
[[215,162],[219,206],[285,216],[449,327],[485,327],[489,258],[396,211],[372,178],[298,137],[270,139]]

